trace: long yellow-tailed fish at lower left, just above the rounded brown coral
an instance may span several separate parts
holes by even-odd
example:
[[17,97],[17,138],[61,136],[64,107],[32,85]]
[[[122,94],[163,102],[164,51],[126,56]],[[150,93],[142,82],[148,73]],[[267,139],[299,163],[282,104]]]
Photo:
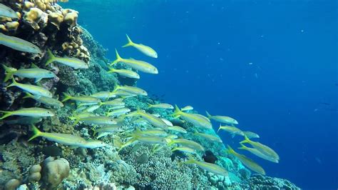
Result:
[[68,145],[68,146],[78,146],[83,148],[95,149],[98,147],[106,146],[101,141],[86,141],[81,136],[75,136],[71,134],[57,134],[57,133],[45,133],[39,131],[36,126],[33,126],[34,135],[29,139],[29,141],[35,139],[36,137],[43,137],[49,141],[54,141],[59,144]]

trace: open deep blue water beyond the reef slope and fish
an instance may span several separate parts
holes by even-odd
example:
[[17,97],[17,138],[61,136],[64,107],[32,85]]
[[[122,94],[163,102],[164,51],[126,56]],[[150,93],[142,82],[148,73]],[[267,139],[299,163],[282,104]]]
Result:
[[[232,116],[280,154],[252,156],[267,175],[303,189],[338,187],[338,66],[335,1],[70,1],[79,24],[121,56],[149,61],[150,95],[204,114]],[[158,59],[122,49],[129,34]],[[217,128],[215,123],[214,127]],[[221,133],[238,146],[241,139]]]

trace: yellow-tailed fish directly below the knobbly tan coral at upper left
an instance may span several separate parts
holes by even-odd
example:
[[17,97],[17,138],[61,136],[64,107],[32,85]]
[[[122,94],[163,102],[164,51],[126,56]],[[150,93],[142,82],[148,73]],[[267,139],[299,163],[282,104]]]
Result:
[[48,49],[48,60],[46,61],[46,66],[53,62],[57,62],[59,64],[63,64],[66,66],[70,66],[74,69],[88,69],[88,64],[86,62],[74,58],[74,57],[56,57],[51,53],[51,50]]

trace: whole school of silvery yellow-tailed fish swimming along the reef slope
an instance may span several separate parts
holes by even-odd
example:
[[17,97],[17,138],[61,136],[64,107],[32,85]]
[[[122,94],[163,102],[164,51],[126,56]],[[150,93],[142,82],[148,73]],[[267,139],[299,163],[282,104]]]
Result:
[[[0,4],[0,16],[17,18],[15,11],[3,4]],[[137,44],[133,42],[128,35],[126,37],[128,43],[122,46],[123,48],[133,47],[145,56],[150,56],[154,59],[158,58],[157,52],[150,46]],[[16,51],[24,51],[29,54],[41,54],[42,52],[38,46],[29,41],[25,41],[14,36],[7,36],[2,33],[0,33],[0,45],[7,46]],[[58,57],[55,56],[49,49],[47,50],[47,53],[46,63],[43,64],[45,67],[50,64],[61,64],[73,69],[89,68],[88,64],[81,59],[66,56]],[[124,64],[127,69],[114,68],[114,66],[118,63]],[[16,120],[5,120],[6,124],[29,124],[31,126],[34,134],[31,136],[29,141],[42,137],[48,141],[54,141],[65,146],[97,149],[104,146],[112,146],[111,144],[106,144],[105,142],[97,139],[109,134],[120,133],[123,135],[124,143],[117,147],[118,151],[121,151],[126,146],[131,146],[137,143],[155,144],[154,152],[161,149],[163,146],[170,146],[172,151],[181,151],[184,154],[188,154],[188,160],[184,162],[185,164],[195,164],[206,171],[210,171],[217,175],[227,176],[228,172],[221,166],[194,159],[193,155],[203,153],[203,151],[205,151],[205,147],[191,139],[183,139],[179,137],[180,134],[187,134],[188,131],[193,131],[191,134],[192,136],[200,136],[206,141],[214,141],[222,144],[222,139],[220,139],[220,137],[215,133],[227,131],[232,135],[232,137],[235,135],[244,137],[244,140],[240,141],[240,147],[238,149],[248,151],[261,159],[272,161],[274,163],[278,163],[280,160],[280,156],[269,146],[261,144],[258,141],[252,141],[254,138],[260,138],[258,134],[255,134],[252,131],[240,130],[236,126],[239,122],[230,116],[211,115],[208,111],[206,112],[206,116],[203,116],[201,114],[196,114],[195,111],[193,111],[193,106],[184,106],[180,109],[176,105],[173,106],[165,103],[148,104],[148,109],[146,110],[132,110],[132,108],[126,106],[124,101],[133,96],[148,96],[147,91],[137,86],[120,86],[118,84],[116,84],[113,91],[99,91],[91,95],[71,95],[67,92],[63,92],[63,99],[59,101],[56,99],[55,94],[52,94],[48,91],[48,89],[39,85],[39,81],[43,79],[56,77],[56,74],[52,71],[40,69],[34,64],[32,64],[32,67],[28,69],[11,68],[5,64],[2,66],[4,67],[6,74],[4,79],[4,82],[7,84],[6,88],[19,88],[26,94],[24,99],[34,99],[35,101],[39,101],[41,104],[45,104],[50,108],[45,109],[42,107],[31,107],[21,108],[14,111],[0,111],[2,113],[0,116],[1,120],[6,119],[9,116],[21,116]],[[116,49],[116,60],[109,64],[108,73],[115,73],[119,76],[131,79],[140,79],[139,72],[158,74],[158,69],[153,64],[146,61],[132,58],[122,58]],[[34,79],[35,84],[20,83],[17,81],[16,77],[19,77],[19,79]],[[8,82],[9,80],[11,80],[10,84]],[[90,126],[93,130],[93,136],[96,136],[95,140],[84,139],[76,134],[47,133],[41,131],[35,126],[36,123],[45,117],[56,116],[56,113],[52,109],[54,107],[62,108],[64,104],[66,104],[66,101],[71,101],[71,104],[77,105],[76,109],[73,110],[73,115],[68,116],[68,119],[73,121],[74,126],[77,124]],[[108,111],[106,111],[106,113],[96,113],[96,110],[101,106],[104,106],[108,109]],[[161,118],[160,114],[150,114],[149,110],[151,109],[171,110],[171,116],[173,119],[179,119],[180,121],[192,124],[193,130],[185,129],[182,126],[175,126],[168,119]],[[126,118],[132,119],[133,122],[138,124],[146,122],[153,127],[145,130],[135,128],[133,130],[126,131],[123,130],[122,127],[123,121]],[[214,131],[210,120],[220,123],[217,131]],[[247,145],[250,145],[250,147]],[[247,166],[247,168],[259,174],[265,174],[265,170],[255,163],[255,161],[252,161],[252,159],[249,159],[243,154],[237,153],[229,145],[227,145],[227,151],[229,154],[237,157],[237,159]]]

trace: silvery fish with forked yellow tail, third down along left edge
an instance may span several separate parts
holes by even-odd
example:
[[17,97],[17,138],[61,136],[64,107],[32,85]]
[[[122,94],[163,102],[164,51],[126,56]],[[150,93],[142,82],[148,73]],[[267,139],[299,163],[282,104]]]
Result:
[[35,82],[40,81],[41,79],[46,78],[54,78],[56,75],[52,71],[48,71],[46,69],[15,69],[12,67],[8,67],[4,64],[2,64],[6,71],[6,77],[4,79],[4,82],[8,81],[11,76],[19,76],[21,78],[29,78],[29,79],[35,79]]

